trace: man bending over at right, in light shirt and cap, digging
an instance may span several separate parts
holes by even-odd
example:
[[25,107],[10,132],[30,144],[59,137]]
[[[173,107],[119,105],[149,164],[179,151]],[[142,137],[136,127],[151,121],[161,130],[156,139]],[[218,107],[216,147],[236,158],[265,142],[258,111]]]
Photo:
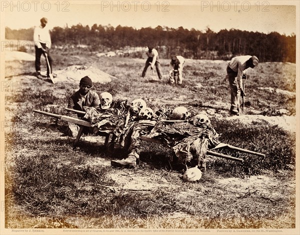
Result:
[[245,76],[245,70],[249,67],[254,68],[258,62],[255,55],[236,56],[229,61],[226,70],[231,93],[230,112],[232,114],[239,115],[239,96],[245,96],[242,88],[242,77]]

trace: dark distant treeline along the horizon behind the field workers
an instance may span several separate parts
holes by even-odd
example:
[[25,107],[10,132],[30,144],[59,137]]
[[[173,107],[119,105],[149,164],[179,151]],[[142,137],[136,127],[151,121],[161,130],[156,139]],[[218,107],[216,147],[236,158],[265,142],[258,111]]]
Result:
[[[5,27],[6,39],[33,40],[33,28],[12,30]],[[281,35],[278,32],[268,34],[238,29],[204,31],[157,26],[135,29],[118,25],[91,27],[81,24],[71,27],[54,27],[51,30],[52,43],[64,45],[89,45],[97,52],[146,46],[159,50],[161,57],[180,54],[195,59],[229,59],[234,55],[256,55],[260,61],[295,62],[296,36]]]

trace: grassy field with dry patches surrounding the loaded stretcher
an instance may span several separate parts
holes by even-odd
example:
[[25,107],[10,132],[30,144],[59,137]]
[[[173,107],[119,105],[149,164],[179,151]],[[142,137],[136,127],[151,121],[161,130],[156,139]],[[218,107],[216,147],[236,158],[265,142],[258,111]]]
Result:
[[[53,85],[31,76],[34,62],[7,61],[5,80],[25,85],[5,90],[5,120],[10,123],[5,127],[5,227],[295,228],[295,132],[267,121],[227,118],[225,61],[187,60],[183,85],[176,87],[166,77],[162,83],[140,78],[143,59],[98,58],[79,50],[53,50],[52,56],[54,70],[82,64],[117,77],[95,83],[92,89],[98,94],[143,98],[153,109],[184,105],[194,114],[210,110],[220,141],[265,157],[240,153],[243,164],[207,157],[202,178],[183,182],[168,148],[142,142],[136,168],[111,168],[111,159],[124,156],[121,149],[105,150],[98,136],[98,142],[81,140],[74,150],[65,122],[32,112],[64,114],[78,84]],[[161,61],[167,74],[169,61]],[[261,63],[248,74],[247,115],[275,115],[279,109],[295,115],[295,64]]]

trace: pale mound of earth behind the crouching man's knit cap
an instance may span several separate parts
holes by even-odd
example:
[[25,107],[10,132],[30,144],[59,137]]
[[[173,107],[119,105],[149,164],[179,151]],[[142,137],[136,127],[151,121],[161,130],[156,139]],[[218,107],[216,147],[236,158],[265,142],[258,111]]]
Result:
[[57,81],[75,81],[79,82],[84,76],[89,76],[93,82],[106,83],[116,78],[102,70],[84,65],[72,65],[62,70],[55,70]]

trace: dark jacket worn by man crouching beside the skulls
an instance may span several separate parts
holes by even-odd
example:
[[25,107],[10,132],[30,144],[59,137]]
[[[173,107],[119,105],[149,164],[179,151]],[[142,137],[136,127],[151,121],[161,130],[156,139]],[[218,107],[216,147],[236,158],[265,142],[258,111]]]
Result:
[[[96,92],[89,90],[86,94],[84,103],[81,101],[81,97],[79,94],[79,90],[77,90],[75,93],[73,93],[67,103],[67,107],[79,111],[84,111],[83,106],[87,107],[98,107],[100,104],[100,99],[99,96]],[[83,114],[77,114],[75,112],[68,111],[67,112],[68,116],[72,117],[83,117]]]

